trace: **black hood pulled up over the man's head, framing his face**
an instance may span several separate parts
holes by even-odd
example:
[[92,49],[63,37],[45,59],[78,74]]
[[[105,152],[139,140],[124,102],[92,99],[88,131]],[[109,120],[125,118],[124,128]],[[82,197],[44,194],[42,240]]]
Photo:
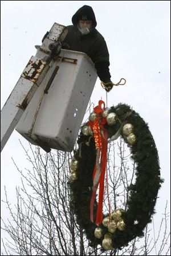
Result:
[[72,23],[73,23],[74,26],[77,25],[79,19],[84,19],[84,20],[86,20],[86,19],[90,20],[91,19],[92,27],[97,26],[95,13],[93,12],[93,9],[92,9],[91,6],[84,5],[78,11],[76,11],[76,13],[72,17]]

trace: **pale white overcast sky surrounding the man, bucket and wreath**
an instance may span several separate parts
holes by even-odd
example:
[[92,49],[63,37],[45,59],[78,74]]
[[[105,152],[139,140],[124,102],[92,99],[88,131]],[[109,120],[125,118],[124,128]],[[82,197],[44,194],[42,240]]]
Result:
[[[154,223],[170,207],[170,1],[1,1],[1,109],[17,83],[35,45],[54,22],[71,25],[72,15],[83,5],[92,6],[96,29],[107,42],[111,80],[127,79],[125,86],[108,94],[108,107],[127,103],[148,123],[158,149],[161,177]],[[97,79],[91,101],[105,100]],[[20,178],[11,160],[24,169],[28,142],[14,131],[1,153],[1,191],[6,185],[14,201]],[[6,209],[1,207],[4,217]]]

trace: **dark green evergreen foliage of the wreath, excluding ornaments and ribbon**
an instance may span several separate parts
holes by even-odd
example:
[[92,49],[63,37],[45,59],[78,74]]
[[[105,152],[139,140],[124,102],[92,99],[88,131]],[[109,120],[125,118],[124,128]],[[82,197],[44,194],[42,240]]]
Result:
[[[113,247],[120,248],[128,246],[128,242],[136,237],[143,237],[143,230],[151,222],[152,215],[154,214],[157,193],[162,180],[160,178],[156,145],[143,118],[132,110],[131,107],[121,103],[116,107],[111,107],[110,112],[116,113],[121,122],[131,123],[134,127],[133,133],[136,135],[136,143],[130,147],[131,158],[136,163],[136,182],[128,187],[128,210],[122,216],[126,227],[124,231],[117,229],[112,234]],[[119,122],[113,126],[105,125],[109,138],[116,133],[119,127]],[[70,183],[72,207],[78,224],[86,232],[89,245],[95,247],[97,244],[101,244],[104,238],[104,236],[100,239],[95,237],[94,231],[97,226],[91,222],[89,217],[89,205],[93,186],[92,174],[96,160],[95,142],[93,138],[90,138],[90,135],[85,136],[81,132],[78,144],[82,145],[81,157],[79,157],[79,150],[74,152],[74,158],[78,161],[78,179]],[[95,202],[94,209],[95,217],[97,202]],[[104,234],[108,233],[108,229],[102,224],[99,227],[103,229]]]

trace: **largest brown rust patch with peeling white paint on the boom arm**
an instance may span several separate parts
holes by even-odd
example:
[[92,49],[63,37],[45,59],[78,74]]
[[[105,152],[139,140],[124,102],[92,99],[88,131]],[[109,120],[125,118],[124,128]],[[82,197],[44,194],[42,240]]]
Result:
[[23,71],[22,77],[32,82],[36,82],[45,65],[46,62],[42,61],[42,59],[36,59],[36,61],[32,61],[32,59],[30,59],[25,71]]

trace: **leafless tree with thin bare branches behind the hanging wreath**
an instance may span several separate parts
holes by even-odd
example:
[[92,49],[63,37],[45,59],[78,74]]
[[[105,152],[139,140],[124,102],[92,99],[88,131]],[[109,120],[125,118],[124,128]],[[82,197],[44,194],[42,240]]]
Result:
[[[116,150],[117,149],[117,150]],[[135,238],[127,247],[101,251],[92,248],[84,230],[76,222],[70,190],[71,153],[52,151],[44,154],[39,147],[25,150],[28,169],[20,170],[22,187],[16,187],[17,204],[14,209],[7,198],[5,203],[10,218],[2,219],[2,230],[10,239],[2,239],[5,255],[170,255],[167,203],[156,239],[149,225],[145,237]],[[135,163],[123,140],[112,142],[108,149],[108,195],[111,209],[127,209],[129,186],[135,181]],[[104,195],[104,211],[108,211],[108,197]],[[2,254],[3,255],[3,254]]]

